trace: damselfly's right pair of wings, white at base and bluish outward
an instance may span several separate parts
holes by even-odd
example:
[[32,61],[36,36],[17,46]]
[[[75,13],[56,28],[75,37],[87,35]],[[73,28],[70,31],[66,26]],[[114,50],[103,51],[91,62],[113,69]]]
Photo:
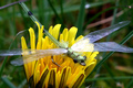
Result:
[[[120,22],[117,24],[114,24],[112,26],[109,26],[106,29],[103,30],[99,30],[99,31],[94,31],[91,32],[90,34],[85,35],[81,41],[82,44],[86,45],[86,43],[83,43],[83,41],[88,40],[89,41],[89,45],[93,45],[93,52],[98,51],[98,52],[124,52],[124,53],[133,53],[133,48],[131,47],[126,47],[124,45],[120,45],[115,42],[100,42],[100,43],[94,43],[96,41],[99,41],[100,38],[113,33],[114,31],[117,31],[119,29],[127,25],[130,23],[130,21],[123,21]],[[78,43],[80,43],[81,41],[79,41]],[[81,47],[78,43],[75,43],[72,46],[73,51],[76,52],[92,52],[92,50],[83,50],[84,47]],[[82,45],[82,46],[84,46]],[[78,50],[82,50],[82,51],[78,51]]]

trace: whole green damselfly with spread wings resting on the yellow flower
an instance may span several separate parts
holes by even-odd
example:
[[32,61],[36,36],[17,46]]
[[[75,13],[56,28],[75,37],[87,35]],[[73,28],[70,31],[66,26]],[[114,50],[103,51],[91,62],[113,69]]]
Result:
[[[23,10],[28,13],[28,15],[31,18],[31,20],[38,26],[42,26],[42,24],[37,20],[37,18],[31,13],[31,11],[28,9],[28,7],[23,2],[20,2],[20,6],[23,8]],[[117,31],[119,29],[127,25],[129,23],[130,23],[130,21],[123,21],[123,22],[120,22],[120,23],[114,24],[112,26],[105,28],[103,30],[91,32],[90,34],[85,35],[83,38],[81,38],[76,43],[74,43],[71,47],[68,47],[66,43],[60,43],[45,29],[42,29],[44,34],[60,48],[33,50],[33,51],[31,51],[31,50],[25,50],[25,51],[18,50],[18,51],[4,51],[4,52],[0,51],[0,56],[22,55],[23,53],[28,52],[25,58],[16,59],[12,62],[12,64],[16,64],[16,65],[23,65],[25,63],[30,63],[30,62],[43,58],[44,56],[65,54],[69,57],[71,57],[75,63],[80,63],[81,65],[85,66],[86,56],[80,55],[79,52],[133,53],[133,48],[126,47],[124,45],[120,45],[115,42],[95,43],[100,38],[108,36],[109,34],[111,34],[111,33]],[[30,51],[30,53],[29,53],[29,51]],[[25,61],[25,62],[23,63],[23,61]],[[57,64],[53,59],[52,59],[52,62],[54,64]]]

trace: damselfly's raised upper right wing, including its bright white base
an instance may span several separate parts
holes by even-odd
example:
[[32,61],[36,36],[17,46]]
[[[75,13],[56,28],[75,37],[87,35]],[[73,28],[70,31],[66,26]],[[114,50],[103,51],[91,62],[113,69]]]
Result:
[[75,52],[92,52],[93,42],[111,34],[112,32],[121,29],[122,26],[127,25],[129,23],[130,21],[123,21],[106,29],[91,32],[90,34],[85,35],[83,38],[78,41],[75,44],[73,44],[71,48]]

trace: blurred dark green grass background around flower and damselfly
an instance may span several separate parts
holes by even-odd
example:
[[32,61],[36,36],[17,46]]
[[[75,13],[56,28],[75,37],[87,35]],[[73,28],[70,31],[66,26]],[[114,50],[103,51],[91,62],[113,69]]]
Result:
[[[14,1],[0,0],[0,7]],[[45,29],[57,23],[62,24],[62,29],[74,25],[79,29],[78,35],[131,21],[127,26],[100,41],[120,43],[124,40],[127,41],[124,45],[133,47],[133,0],[29,0],[25,3]],[[37,32],[35,24],[19,4],[0,10],[0,50],[20,48],[21,36],[29,40],[29,35],[28,32],[18,33],[30,26]],[[23,67],[10,64],[14,58],[0,57],[0,88],[28,88]],[[83,88],[133,88],[132,53],[100,53],[96,59],[98,65]]]

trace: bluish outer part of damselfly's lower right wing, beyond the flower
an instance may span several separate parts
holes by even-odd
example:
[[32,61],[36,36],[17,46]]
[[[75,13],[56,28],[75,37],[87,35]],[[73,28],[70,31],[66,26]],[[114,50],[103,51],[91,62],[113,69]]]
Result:
[[94,51],[99,52],[124,52],[133,53],[133,48],[120,45],[115,42],[101,42],[94,43]]

